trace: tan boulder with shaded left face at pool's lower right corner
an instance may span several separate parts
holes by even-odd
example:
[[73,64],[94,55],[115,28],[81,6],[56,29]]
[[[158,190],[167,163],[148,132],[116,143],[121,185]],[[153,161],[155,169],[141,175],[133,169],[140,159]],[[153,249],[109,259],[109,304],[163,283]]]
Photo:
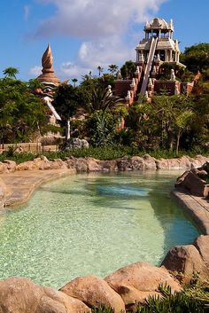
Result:
[[168,251],[161,265],[166,270],[182,273],[184,283],[189,283],[195,273],[199,273],[200,278],[209,277],[209,269],[193,245],[174,246]]

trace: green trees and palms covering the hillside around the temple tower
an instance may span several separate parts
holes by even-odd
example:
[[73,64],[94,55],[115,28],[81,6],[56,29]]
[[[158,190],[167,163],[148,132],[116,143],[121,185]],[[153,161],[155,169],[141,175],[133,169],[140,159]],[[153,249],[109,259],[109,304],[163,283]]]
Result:
[[[168,96],[166,92],[155,95],[152,102],[141,99],[131,107],[114,96],[117,65],[110,65],[109,74],[97,67],[97,77],[91,73],[82,77],[80,85],[66,84],[58,87],[53,105],[62,117],[61,130],[71,121],[72,137],[85,138],[93,147],[132,153],[180,151],[200,153],[208,149],[209,138],[209,43],[186,48],[181,60],[187,69],[176,66],[176,77],[190,81],[201,72],[194,93]],[[196,58],[194,60],[194,58]],[[195,64],[196,67],[193,67]],[[164,63],[161,77],[167,79],[171,65]],[[120,72],[130,79],[135,73],[135,63],[127,61]],[[18,70],[8,67],[0,80],[0,130],[1,142],[15,143],[31,140],[38,132],[47,131],[47,119],[43,104],[31,90],[35,80],[29,83],[16,79]],[[112,90],[108,87],[112,86]],[[124,128],[120,126],[124,122]],[[122,153],[119,153],[120,155]],[[86,154],[87,155],[87,154]],[[108,158],[111,158],[109,156]]]

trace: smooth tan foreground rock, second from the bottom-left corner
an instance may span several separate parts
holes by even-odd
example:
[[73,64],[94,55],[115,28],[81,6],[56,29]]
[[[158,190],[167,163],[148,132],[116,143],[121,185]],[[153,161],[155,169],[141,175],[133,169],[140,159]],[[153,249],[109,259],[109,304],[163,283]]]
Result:
[[99,307],[103,304],[107,308],[112,308],[115,313],[125,310],[120,295],[115,293],[104,279],[95,276],[75,278],[62,287],[60,291],[80,299],[87,303],[90,308]]

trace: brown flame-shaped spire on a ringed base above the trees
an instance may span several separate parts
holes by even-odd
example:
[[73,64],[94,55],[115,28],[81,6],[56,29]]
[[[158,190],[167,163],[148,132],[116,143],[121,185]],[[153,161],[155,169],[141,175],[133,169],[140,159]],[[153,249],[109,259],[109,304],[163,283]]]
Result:
[[59,85],[60,81],[58,77],[54,74],[53,57],[50,49],[50,44],[48,44],[46,51],[43,53],[42,66],[43,74],[39,75],[37,79],[40,82],[52,82],[56,85]]

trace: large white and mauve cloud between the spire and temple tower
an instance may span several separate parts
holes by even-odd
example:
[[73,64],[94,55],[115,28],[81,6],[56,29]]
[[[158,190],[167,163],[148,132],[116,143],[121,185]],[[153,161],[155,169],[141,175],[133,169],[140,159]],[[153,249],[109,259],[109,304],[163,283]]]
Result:
[[37,27],[36,38],[64,35],[82,39],[77,59],[73,62],[67,59],[59,69],[64,79],[81,79],[81,75],[89,71],[97,74],[99,65],[107,69],[110,64],[120,66],[128,59],[135,60],[135,46],[143,36],[135,31],[136,23],[151,20],[159,6],[169,0],[36,1],[56,8],[55,13]]

